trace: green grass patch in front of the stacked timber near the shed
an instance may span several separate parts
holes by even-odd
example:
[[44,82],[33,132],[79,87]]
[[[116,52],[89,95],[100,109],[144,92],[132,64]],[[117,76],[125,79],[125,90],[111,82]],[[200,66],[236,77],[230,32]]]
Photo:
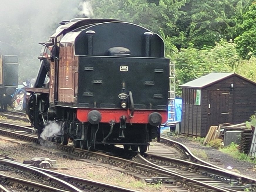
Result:
[[240,151],[237,149],[237,147],[238,147],[238,145],[236,145],[232,142],[229,146],[227,146],[223,149],[220,149],[220,151],[222,151],[223,153],[229,154],[230,156],[232,156],[235,159],[238,159],[240,161],[247,161],[247,162],[256,164],[256,159],[252,159],[247,154],[240,153]]

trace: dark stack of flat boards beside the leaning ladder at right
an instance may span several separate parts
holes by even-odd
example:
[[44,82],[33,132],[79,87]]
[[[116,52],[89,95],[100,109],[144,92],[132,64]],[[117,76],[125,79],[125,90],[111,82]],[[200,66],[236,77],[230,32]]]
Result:
[[240,153],[249,154],[252,144],[252,129],[245,129],[241,133],[241,139],[239,144]]

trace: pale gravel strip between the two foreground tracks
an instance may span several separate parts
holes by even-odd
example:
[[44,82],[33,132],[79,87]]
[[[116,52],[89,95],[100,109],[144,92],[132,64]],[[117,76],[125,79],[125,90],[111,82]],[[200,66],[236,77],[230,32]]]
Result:
[[[56,149],[52,149],[51,151],[58,152]],[[169,191],[160,184],[154,186],[147,185],[146,183],[134,179],[132,176],[128,176],[107,167],[100,166],[97,163],[65,159],[62,157],[65,154],[61,151],[60,154],[62,155],[57,155],[50,152],[34,150],[33,148],[21,144],[0,140],[0,154],[6,154],[16,159],[18,162],[23,162],[24,159],[31,159],[33,157],[48,157],[50,159],[57,160],[57,164],[59,165],[59,169],[57,171],[65,174],[79,176],[82,178],[100,181],[103,183],[130,188],[142,192]]]

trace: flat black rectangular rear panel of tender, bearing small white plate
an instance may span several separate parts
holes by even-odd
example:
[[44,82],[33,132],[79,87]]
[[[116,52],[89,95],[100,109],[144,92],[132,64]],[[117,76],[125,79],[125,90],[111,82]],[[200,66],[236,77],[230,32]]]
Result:
[[168,87],[169,59],[79,56],[79,107],[120,109],[131,91],[135,109],[167,110]]

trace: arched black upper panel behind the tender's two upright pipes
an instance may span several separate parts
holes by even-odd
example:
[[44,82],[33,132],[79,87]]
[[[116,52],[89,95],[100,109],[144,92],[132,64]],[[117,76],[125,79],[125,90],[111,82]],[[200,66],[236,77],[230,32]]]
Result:
[[[161,57],[164,58],[164,42],[157,34],[151,33],[141,26],[125,22],[100,23],[81,31],[75,38],[75,54],[88,55],[88,34],[94,31],[91,55],[107,55],[113,47],[124,47],[131,51],[131,57]],[[146,55],[146,36],[152,34],[149,43],[149,55]]]

